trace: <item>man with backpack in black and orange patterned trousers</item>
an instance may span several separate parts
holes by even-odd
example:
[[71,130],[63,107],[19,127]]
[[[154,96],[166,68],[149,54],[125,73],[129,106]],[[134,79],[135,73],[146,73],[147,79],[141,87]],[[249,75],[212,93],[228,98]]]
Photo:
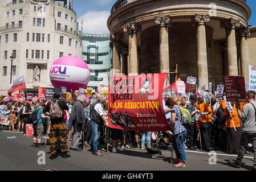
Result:
[[57,139],[58,135],[60,138],[60,146],[63,158],[69,158],[70,155],[67,154],[67,126],[64,122],[64,110],[68,110],[68,106],[63,100],[59,100],[60,92],[55,92],[53,101],[48,102],[46,107],[43,109],[43,113],[47,113],[51,118],[50,125],[50,159],[55,159]]

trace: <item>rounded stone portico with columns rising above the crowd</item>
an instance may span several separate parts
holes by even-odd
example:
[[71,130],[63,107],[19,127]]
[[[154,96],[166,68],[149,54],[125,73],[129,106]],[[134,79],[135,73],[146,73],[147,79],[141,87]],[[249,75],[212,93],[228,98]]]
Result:
[[113,75],[173,72],[178,64],[178,77],[198,77],[199,88],[212,82],[215,90],[226,75],[247,81],[247,65],[256,66],[250,15],[245,0],[119,0],[107,22]]

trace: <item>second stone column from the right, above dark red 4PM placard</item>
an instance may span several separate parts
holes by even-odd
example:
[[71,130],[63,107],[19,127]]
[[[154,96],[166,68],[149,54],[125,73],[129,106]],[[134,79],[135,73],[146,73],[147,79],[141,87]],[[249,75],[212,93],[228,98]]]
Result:
[[240,26],[239,20],[230,18],[221,22],[221,27],[226,29],[227,37],[227,63],[229,66],[229,76],[238,75],[238,65],[237,65],[237,44],[235,42],[235,28]]

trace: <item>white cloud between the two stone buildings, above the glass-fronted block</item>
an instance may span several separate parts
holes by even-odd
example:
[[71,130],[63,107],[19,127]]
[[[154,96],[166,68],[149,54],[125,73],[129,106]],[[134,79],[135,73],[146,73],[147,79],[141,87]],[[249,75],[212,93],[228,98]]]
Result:
[[83,19],[83,32],[89,34],[109,34],[107,20],[109,11],[88,11],[79,17],[79,22]]

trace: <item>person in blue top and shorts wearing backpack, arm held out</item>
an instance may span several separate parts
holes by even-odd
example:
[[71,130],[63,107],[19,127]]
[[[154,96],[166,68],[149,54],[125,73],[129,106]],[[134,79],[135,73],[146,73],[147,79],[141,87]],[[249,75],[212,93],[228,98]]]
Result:
[[32,114],[29,117],[29,119],[31,118],[31,121],[33,123],[33,129],[34,129],[33,147],[44,148],[44,145],[41,143],[43,138],[43,130],[44,130],[43,118],[50,118],[50,117],[43,114],[43,102],[40,102],[38,106],[39,106],[38,108],[32,111]]

